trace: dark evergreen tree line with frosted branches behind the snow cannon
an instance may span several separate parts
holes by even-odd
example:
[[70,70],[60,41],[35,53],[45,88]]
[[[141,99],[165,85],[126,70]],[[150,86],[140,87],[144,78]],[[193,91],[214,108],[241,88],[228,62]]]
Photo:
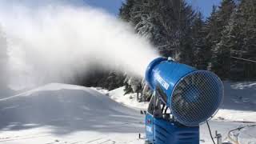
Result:
[[[185,0],[126,0],[118,17],[148,38],[163,57],[211,70],[222,80],[256,79],[254,0],[222,0],[208,18]],[[109,90],[125,86],[126,94],[150,95],[142,79],[113,71],[97,78],[98,86]]]

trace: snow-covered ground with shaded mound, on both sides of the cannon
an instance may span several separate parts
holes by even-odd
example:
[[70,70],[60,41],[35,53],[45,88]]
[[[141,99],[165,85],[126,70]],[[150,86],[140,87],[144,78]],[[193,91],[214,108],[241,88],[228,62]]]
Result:
[[[238,121],[256,118],[255,86],[252,82],[225,83],[229,95],[223,110],[210,122],[213,133],[218,130],[225,141],[254,144],[255,128],[247,126],[253,123]],[[0,143],[142,144],[138,133],[144,133],[144,116],[139,109],[147,103],[136,102],[135,94],[122,93],[122,88],[109,92],[55,83],[1,99]],[[241,126],[247,127],[237,129]],[[201,143],[212,143],[206,125],[200,133]]]

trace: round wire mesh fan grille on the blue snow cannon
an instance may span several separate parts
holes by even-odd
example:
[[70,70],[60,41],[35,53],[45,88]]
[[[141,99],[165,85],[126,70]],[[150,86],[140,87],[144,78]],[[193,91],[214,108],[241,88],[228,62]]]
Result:
[[223,86],[218,76],[198,70],[174,87],[171,108],[174,118],[186,126],[198,126],[214,116],[222,103]]

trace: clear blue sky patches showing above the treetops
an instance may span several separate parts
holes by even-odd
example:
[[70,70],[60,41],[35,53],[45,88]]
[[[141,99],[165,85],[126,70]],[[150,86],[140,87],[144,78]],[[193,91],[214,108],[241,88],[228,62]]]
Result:
[[[118,14],[118,10],[125,0],[84,0],[88,5],[102,8],[110,14]],[[205,17],[209,16],[213,5],[218,5],[222,0],[187,0],[192,3],[195,10],[200,10]]]

